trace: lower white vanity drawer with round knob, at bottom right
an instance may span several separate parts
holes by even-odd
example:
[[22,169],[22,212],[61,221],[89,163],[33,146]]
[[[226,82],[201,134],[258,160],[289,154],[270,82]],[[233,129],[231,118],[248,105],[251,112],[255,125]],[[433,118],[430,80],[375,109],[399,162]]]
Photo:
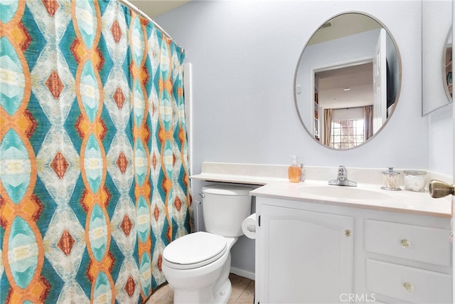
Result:
[[412,303],[452,303],[452,277],[367,259],[367,289],[375,295]]

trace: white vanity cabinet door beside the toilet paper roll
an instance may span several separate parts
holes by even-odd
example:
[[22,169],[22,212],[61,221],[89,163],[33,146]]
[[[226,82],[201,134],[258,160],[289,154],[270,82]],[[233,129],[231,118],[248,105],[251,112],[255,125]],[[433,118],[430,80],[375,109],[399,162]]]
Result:
[[261,206],[260,216],[257,302],[346,303],[353,218],[269,205]]

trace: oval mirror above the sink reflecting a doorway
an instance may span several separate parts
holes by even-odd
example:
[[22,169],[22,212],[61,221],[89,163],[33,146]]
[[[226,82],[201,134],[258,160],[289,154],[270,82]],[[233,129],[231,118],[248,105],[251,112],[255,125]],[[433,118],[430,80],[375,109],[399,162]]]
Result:
[[321,145],[352,149],[384,127],[400,85],[400,53],[385,27],[365,14],[340,14],[323,23],[301,52],[296,110]]

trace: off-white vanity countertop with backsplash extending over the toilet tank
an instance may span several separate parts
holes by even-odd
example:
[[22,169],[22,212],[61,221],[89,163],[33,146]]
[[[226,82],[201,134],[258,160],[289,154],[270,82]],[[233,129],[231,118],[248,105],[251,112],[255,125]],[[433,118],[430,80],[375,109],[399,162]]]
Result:
[[[333,204],[382,211],[396,211],[407,214],[451,217],[451,197],[433,199],[428,192],[388,191],[380,189],[384,169],[348,168],[349,179],[358,182],[356,189],[364,189],[378,194],[375,199],[345,199],[343,197],[323,196],[306,191],[308,187],[328,186],[328,180],[336,177],[336,167],[306,167],[305,182],[291,183],[287,179],[287,166],[260,164],[228,164],[204,162],[202,172],[192,175],[191,179],[210,182],[229,182],[259,185],[250,192],[252,196],[277,199],[291,199],[316,204]],[[399,169],[397,169],[400,171]],[[449,177],[427,173],[428,179],[450,182]],[[361,182],[360,182],[361,181]],[[403,188],[403,187],[401,187]]]

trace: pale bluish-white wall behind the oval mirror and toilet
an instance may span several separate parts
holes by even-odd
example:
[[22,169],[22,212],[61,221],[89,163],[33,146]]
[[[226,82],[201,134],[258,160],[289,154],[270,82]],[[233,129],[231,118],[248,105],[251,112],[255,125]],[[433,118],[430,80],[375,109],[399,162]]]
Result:
[[[354,150],[335,151],[301,126],[293,82],[306,41],[343,11],[362,11],[385,24],[400,51],[402,88],[380,134]],[[421,117],[421,13],[420,1],[241,0],[191,1],[156,18],[193,64],[192,173],[203,161],[289,164],[291,154],[316,166],[443,170],[433,156],[451,143],[430,147],[429,134],[445,130],[451,117],[432,116],[441,124]],[[193,193],[201,184],[193,182]],[[254,241],[236,244],[232,266],[254,271]]]

